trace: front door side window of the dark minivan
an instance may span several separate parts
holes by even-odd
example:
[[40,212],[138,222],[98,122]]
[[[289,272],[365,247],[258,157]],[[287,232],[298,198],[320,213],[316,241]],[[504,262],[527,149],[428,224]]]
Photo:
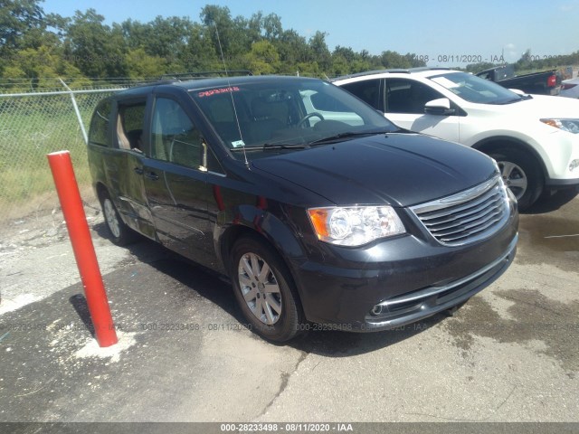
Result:
[[198,168],[201,134],[185,110],[173,99],[158,98],[153,109],[151,156],[177,165]]

